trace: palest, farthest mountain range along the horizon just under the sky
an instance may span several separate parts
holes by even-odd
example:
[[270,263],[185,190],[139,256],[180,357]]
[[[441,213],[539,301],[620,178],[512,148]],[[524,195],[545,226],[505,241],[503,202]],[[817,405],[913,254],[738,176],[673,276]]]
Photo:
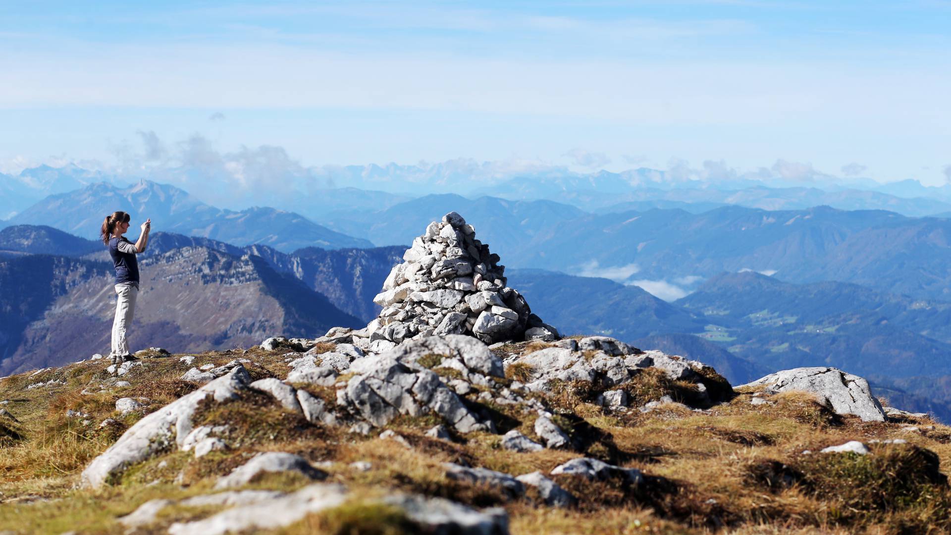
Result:
[[925,187],[914,180],[882,184],[811,168],[790,173],[781,164],[742,173],[710,162],[700,169],[678,165],[668,170],[575,172],[532,162],[476,162],[460,158],[409,166],[256,168],[253,170],[266,174],[269,181],[266,187],[255,188],[242,187],[245,179],[224,169],[162,167],[109,174],[74,164],[62,168],[40,166],[16,175],[0,173],[0,220],[9,219],[51,194],[97,182],[126,188],[142,179],[198,193],[204,202],[221,208],[241,211],[254,206],[281,207],[320,224],[357,211],[390,208],[432,193],[455,193],[473,199],[545,199],[589,211],[684,208],[698,212],[723,205],[763,209],[826,205],[840,209],[887,209],[908,216],[951,212],[951,185]]

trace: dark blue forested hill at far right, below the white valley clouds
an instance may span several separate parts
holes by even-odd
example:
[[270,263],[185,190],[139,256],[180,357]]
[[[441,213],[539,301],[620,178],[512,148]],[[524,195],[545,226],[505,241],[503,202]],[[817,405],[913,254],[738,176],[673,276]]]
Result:
[[794,285],[728,273],[675,302],[705,314],[711,339],[771,368],[835,366],[861,375],[951,372],[951,304],[852,284]]

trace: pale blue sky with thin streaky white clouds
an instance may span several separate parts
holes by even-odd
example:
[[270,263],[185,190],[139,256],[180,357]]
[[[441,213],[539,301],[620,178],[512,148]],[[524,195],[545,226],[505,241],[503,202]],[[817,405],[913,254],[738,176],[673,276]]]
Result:
[[154,131],[307,166],[782,159],[940,184],[949,22],[938,0],[3,2],[0,170],[110,165]]

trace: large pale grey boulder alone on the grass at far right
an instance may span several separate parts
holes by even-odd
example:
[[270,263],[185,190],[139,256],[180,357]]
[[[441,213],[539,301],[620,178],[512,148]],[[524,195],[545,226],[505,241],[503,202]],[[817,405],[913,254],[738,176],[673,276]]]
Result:
[[[743,386],[764,386],[767,393],[803,390],[838,414],[854,414],[865,422],[884,422],[882,404],[872,395],[868,382],[835,367],[797,367],[771,373]],[[738,386],[739,387],[739,386]]]

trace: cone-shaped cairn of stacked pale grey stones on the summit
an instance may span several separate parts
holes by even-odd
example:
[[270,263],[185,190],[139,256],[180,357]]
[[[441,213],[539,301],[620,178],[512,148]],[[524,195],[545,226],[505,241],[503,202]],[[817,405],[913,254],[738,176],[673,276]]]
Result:
[[379,316],[354,331],[355,338],[393,344],[446,334],[475,336],[486,344],[559,338],[506,285],[498,255],[476,239],[476,229],[455,211],[430,223],[403,260],[373,300],[383,307]]

